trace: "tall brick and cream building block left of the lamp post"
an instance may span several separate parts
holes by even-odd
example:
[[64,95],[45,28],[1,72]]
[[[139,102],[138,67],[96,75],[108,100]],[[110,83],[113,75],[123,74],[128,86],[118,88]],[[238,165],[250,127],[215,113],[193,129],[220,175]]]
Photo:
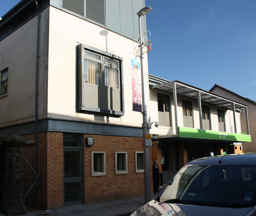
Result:
[[30,185],[39,187],[39,204],[31,206],[143,196],[143,7],[143,0],[26,0],[0,21],[0,137],[21,135],[24,149],[40,151],[33,153],[40,177]]

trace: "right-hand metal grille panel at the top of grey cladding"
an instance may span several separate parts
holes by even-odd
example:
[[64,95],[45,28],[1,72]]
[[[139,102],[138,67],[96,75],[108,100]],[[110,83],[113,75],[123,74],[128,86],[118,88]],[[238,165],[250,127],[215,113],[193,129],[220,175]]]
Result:
[[105,0],[86,0],[86,18],[105,25]]

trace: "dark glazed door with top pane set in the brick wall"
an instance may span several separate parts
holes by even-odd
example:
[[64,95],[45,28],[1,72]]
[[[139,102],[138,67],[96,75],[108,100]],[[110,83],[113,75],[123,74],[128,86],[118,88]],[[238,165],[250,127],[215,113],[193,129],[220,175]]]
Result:
[[63,135],[64,205],[82,202],[82,139],[81,135]]

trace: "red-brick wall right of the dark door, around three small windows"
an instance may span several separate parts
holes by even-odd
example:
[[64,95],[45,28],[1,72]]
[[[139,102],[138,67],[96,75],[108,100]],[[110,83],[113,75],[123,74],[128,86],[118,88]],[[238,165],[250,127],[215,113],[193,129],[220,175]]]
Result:
[[[135,173],[135,151],[143,151],[143,138],[84,135],[84,139],[86,136],[94,138],[94,145],[85,147],[84,151],[85,203],[143,196],[144,173]],[[105,151],[106,176],[92,176],[92,151]],[[127,151],[127,174],[115,175],[115,151]]]

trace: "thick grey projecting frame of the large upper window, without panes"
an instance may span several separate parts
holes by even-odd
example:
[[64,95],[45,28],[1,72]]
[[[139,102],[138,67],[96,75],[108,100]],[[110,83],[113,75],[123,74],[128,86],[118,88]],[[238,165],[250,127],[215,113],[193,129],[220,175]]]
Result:
[[[92,58],[88,58],[85,56],[85,51],[88,51],[93,54],[100,55],[103,58],[109,58],[110,60],[115,60],[119,62],[119,75],[118,75],[118,81],[119,81],[119,88],[113,88],[104,86],[105,80],[102,79],[101,86],[97,86],[95,84],[85,83],[85,74],[84,74],[84,59],[98,62],[96,60],[93,60]],[[102,60],[103,61],[103,60]],[[102,69],[104,69],[106,65],[102,65]],[[104,74],[104,70],[102,70],[102,74]],[[114,109],[106,109],[99,107],[92,107],[90,105],[85,105],[85,94],[84,94],[84,88],[86,86],[94,86],[102,89],[108,89],[111,91],[119,92],[120,95],[120,110],[114,110]],[[92,46],[84,45],[84,44],[78,44],[77,45],[77,112],[81,113],[92,113],[92,112],[98,112],[98,113],[104,113],[108,116],[113,117],[119,117],[125,115],[125,108],[124,108],[124,94],[123,94],[123,58],[119,56],[115,56],[112,53],[105,52],[103,50],[93,48]]]

